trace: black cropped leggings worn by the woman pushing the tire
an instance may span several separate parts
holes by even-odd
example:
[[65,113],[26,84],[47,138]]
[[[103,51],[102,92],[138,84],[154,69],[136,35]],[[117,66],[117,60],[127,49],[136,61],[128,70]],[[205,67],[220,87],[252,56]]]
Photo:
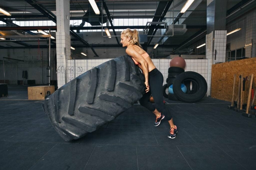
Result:
[[[164,77],[162,73],[156,68],[148,73],[148,84],[150,91],[145,93],[140,99],[141,106],[147,108],[149,111],[154,111],[157,109],[159,112],[165,115],[167,120],[172,119],[172,114],[166,111],[164,106],[163,98],[163,82]],[[152,94],[155,102],[155,106],[148,101],[150,95]]]

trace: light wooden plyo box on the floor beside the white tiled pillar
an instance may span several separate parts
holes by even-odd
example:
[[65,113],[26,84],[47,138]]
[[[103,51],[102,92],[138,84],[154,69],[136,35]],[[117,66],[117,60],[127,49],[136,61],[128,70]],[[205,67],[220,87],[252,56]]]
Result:
[[31,86],[28,87],[28,100],[44,100],[47,91],[54,93],[54,86]]

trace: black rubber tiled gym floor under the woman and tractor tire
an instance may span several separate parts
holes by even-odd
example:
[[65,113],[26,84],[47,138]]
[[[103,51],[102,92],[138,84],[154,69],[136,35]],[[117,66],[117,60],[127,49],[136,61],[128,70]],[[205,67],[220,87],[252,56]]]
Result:
[[255,169],[256,118],[210,97],[197,103],[166,100],[178,133],[167,120],[134,104],[81,139],[66,142],[27,87],[8,87],[0,98],[0,169]]

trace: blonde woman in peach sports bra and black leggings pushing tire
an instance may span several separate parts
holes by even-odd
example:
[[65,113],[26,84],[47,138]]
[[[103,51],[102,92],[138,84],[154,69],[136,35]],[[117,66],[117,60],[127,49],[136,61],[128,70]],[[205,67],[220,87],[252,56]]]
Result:
[[[168,137],[174,139],[177,134],[177,127],[173,123],[172,115],[166,112],[163,103],[162,86],[164,77],[162,73],[156,69],[151,58],[148,56],[146,51],[141,48],[138,41],[137,30],[132,31],[131,29],[127,28],[126,30],[122,31],[120,43],[123,44],[123,47],[127,47],[125,52],[132,57],[134,63],[142,70],[145,76],[146,93],[140,99],[140,104],[156,115],[154,126],[158,126],[161,123],[161,120],[166,116],[170,124],[170,133]],[[154,98],[156,107],[152,103],[148,102],[148,98],[151,94]]]

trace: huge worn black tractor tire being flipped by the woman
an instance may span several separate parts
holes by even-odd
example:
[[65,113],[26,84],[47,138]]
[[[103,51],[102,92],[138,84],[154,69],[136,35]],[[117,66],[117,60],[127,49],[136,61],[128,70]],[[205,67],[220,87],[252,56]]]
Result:
[[144,75],[129,56],[104,62],[60,87],[43,109],[58,134],[70,141],[115,119],[145,93]]

